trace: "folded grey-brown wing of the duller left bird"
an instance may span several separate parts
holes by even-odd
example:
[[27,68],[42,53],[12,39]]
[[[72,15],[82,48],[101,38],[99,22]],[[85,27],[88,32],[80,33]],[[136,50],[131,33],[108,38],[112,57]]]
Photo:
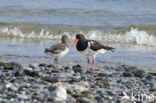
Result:
[[53,54],[57,54],[57,53],[60,53],[61,51],[65,50],[66,47],[67,46],[65,44],[59,43],[59,44],[51,46],[50,48],[46,48],[45,53],[46,52],[51,52]]

